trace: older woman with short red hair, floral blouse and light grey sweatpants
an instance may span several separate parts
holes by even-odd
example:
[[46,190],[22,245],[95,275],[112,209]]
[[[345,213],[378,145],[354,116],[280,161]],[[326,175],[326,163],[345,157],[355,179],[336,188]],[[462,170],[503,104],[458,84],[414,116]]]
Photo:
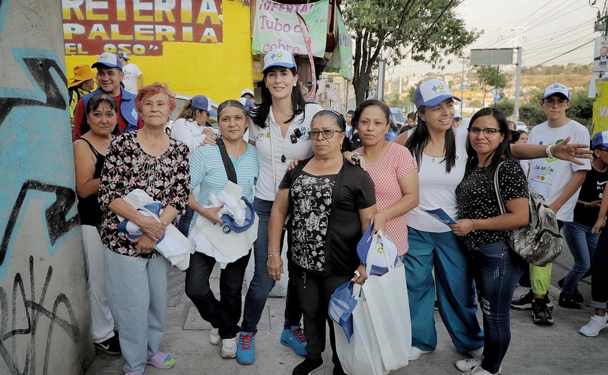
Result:
[[[117,313],[123,370],[128,375],[147,373],[147,364],[162,369],[175,365],[173,357],[159,351],[165,335],[171,263],[154,247],[168,223],[177,224],[175,218],[184,212],[190,195],[188,148],[164,131],[176,107],[174,95],[167,85],[153,83],[139,90],[135,106],[144,125],[112,141],[99,188],[108,293]],[[161,202],[160,221],[123,200],[134,189]],[[142,235],[130,240],[120,232],[119,216],[137,223]]]

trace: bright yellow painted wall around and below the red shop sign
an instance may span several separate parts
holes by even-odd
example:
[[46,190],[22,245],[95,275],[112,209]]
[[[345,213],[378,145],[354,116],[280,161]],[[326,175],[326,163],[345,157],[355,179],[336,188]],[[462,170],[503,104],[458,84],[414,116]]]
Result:
[[[204,94],[217,103],[238,99],[242,89],[253,88],[250,9],[242,1],[224,0],[221,5],[221,43],[164,41],[162,56],[130,55],[143,72],[144,84],[167,82],[174,93]],[[74,66],[96,60],[97,55],[66,55],[68,78]]]

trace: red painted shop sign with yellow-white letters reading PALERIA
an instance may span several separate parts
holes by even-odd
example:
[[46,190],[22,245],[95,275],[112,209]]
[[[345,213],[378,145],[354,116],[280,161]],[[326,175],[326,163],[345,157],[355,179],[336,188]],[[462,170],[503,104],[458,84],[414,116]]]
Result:
[[161,56],[165,41],[221,43],[222,0],[64,0],[66,55]]

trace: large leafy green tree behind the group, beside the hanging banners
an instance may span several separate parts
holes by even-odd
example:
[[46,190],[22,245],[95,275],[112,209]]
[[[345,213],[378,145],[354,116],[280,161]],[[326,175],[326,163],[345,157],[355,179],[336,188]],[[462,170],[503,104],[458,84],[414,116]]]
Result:
[[[447,51],[458,55],[480,34],[466,30],[455,14],[455,0],[344,0],[342,14],[354,33],[353,86],[357,103],[365,100],[378,58],[397,65],[406,56],[442,66]],[[446,61],[450,63],[450,60]]]

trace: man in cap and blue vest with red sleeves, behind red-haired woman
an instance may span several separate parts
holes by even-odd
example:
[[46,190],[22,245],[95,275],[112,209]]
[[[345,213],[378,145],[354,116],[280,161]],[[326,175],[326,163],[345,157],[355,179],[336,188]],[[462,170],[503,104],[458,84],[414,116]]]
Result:
[[118,126],[116,128],[119,133],[136,131],[142,128],[143,122],[135,109],[134,99],[136,95],[120,87],[124,74],[122,72],[122,63],[120,63],[118,57],[104,52],[99,55],[97,62],[92,65],[92,68],[97,69],[97,89],[78,100],[74,112],[74,140],[89,131],[85,115],[86,104],[91,97],[102,93],[108,94],[116,100],[116,105],[118,106],[118,116],[116,116]]

